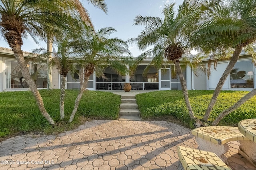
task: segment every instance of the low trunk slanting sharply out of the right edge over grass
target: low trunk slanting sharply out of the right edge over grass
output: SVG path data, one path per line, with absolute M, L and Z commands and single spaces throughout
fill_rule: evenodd
M 218 117 L 212 122 L 212 126 L 216 126 L 224 116 L 228 115 L 229 113 L 231 113 L 232 111 L 234 111 L 235 109 L 240 107 L 242 104 L 244 104 L 247 100 L 249 100 L 250 98 L 252 98 L 255 95 L 256 95 L 256 89 L 247 93 L 244 97 L 242 97 L 240 100 L 238 100 L 238 102 L 236 102 L 233 106 L 222 111 L 222 113 L 220 113 L 218 115 Z

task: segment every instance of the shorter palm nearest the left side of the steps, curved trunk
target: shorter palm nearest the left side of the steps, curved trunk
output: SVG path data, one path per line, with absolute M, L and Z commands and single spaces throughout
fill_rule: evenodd
M 112 27 L 106 27 L 98 30 L 96 33 L 92 29 L 84 29 L 79 39 L 74 41 L 74 48 L 79 56 L 78 63 L 80 68 L 81 89 L 78 94 L 75 106 L 70 116 L 69 122 L 72 122 L 77 111 L 80 99 L 86 90 L 86 85 L 90 75 L 96 70 L 96 76 L 103 76 L 104 68 L 110 67 L 120 72 L 126 73 L 125 64 L 129 64 L 131 57 L 123 57 L 125 54 L 130 55 L 128 45 L 118 38 L 109 38 L 116 31 Z

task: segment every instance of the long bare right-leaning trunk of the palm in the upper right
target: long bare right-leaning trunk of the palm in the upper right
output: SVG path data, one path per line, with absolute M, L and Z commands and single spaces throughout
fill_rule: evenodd
M 220 90 L 222 89 L 223 85 L 224 85 L 224 82 L 226 81 L 227 77 L 228 77 L 228 74 L 230 74 L 231 70 L 233 69 L 234 65 L 236 64 L 238 58 L 239 58 L 239 55 L 242 51 L 242 46 L 236 46 L 236 49 L 234 51 L 234 54 L 233 56 L 231 57 L 230 59 L 230 62 L 226 68 L 226 70 L 224 71 L 224 73 L 222 74 L 215 90 L 214 90 L 214 94 L 212 96 L 212 99 L 210 101 L 210 104 L 208 105 L 208 108 L 206 110 L 206 113 L 203 117 L 203 120 L 204 121 L 207 121 L 209 116 L 210 116 L 210 113 L 212 111 L 212 108 L 214 106 L 214 104 L 216 103 L 216 100 L 218 98 L 218 95 L 220 94 Z

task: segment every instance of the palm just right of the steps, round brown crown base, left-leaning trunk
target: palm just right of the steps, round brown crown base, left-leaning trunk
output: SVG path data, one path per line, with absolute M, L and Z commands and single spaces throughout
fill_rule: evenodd
M 182 58 L 190 58 L 189 52 L 192 49 L 187 41 L 187 33 L 194 29 L 194 23 L 202 14 L 202 10 L 198 6 L 198 2 L 192 0 L 184 0 L 178 8 L 178 14 L 175 13 L 174 6 L 175 4 L 170 4 L 164 8 L 164 20 L 155 17 L 137 16 L 134 25 L 144 25 L 145 29 L 140 32 L 137 38 L 129 41 L 136 41 L 140 50 L 145 50 L 147 47 L 154 45 L 152 49 L 138 57 L 138 62 L 143 61 L 146 57 L 153 57 L 150 64 L 158 69 L 164 64 L 164 57 L 167 62 L 172 61 L 174 63 L 180 78 L 188 113 L 191 119 L 196 119 L 188 99 L 188 90 L 180 62 Z

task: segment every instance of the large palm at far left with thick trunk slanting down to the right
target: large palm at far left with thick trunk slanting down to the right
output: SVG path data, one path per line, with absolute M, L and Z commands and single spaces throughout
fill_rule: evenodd
M 50 11 L 58 11 L 63 13 L 65 18 L 65 12 L 63 8 L 59 8 L 56 3 L 59 1 L 48 0 L 1 0 L 0 1 L 0 29 L 4 39 L 8 42 L 14 56 L 17 59 L 18 67 L 22 72 L 22 76 L 25 78 L 31 92 L 33 93 L 40 112 L 48 120 L 48 122 L 54 125 L 54 120 L 50 117 L 44 108 L 42 98 L 36 88 L 35 82 L 32 80 L 26 61 L 24 59 L 21 46 L 23 45 L 22 38 L 27 34 L 32 38 L 44 37 L 45 29 L 51 30 L 53 33 L 58 31 L 58 25 L 65 25 L 63 20 L 52 16 L 48 21 L 49 16 L 46 15 Z M 47 12 L 45 12 L 47 9 Z M 52 22 L 54 20 L 54 22 Z M 47 25 L 47 26 L 46 26 Z M 66 24 L 66 27 L 68 25 Z

